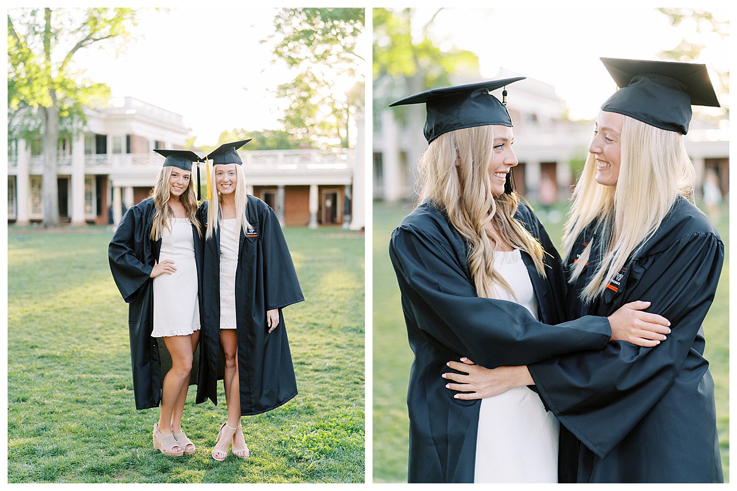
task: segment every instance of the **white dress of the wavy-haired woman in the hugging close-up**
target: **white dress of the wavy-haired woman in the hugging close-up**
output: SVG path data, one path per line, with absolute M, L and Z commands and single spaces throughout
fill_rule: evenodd
M 520 250 L 495 252 L 494 268 L 537 319 L 537 297 Z M 497 298 L 515 301 L 506 289 L 496 289 Z M 558 420 L 527 386 L 482 399 L 475 482 L 558 482 L 558 432 Z

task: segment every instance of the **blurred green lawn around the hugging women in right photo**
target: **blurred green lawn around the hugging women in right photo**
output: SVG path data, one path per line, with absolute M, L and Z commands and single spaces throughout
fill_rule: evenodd
M 408 428 L 407 382 L 413 353 L 407 331 L 399 288 L 388 257 L 391 231 L 410 213 L 408 203 L 374 202 L 374 481 L 403 482 L 407 479 Z M 565 207 L 556 208 L 559 214 Z M 722 452 L 724 481 L 729 481 L 729 216 L 724 205 L 719 233 L 724 240 L 726 257 L 716 299 L 706 317 L 705 357 L 716 386 L 716 417 Z M 553 242 L 560 244 L 562 221 L 552 223 L 542 217 Z

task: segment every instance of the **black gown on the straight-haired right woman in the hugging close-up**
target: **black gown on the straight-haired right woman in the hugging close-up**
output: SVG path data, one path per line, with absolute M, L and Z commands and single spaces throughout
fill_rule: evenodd
M 590 230 L 576 240 L 571 264 L 590 240 Z M 679 197 L 601 300 L 584 305 L 577 295 L 594 264 L 573 284 L 573 317 L 649 300 L 647 311 L 670 320 L 671 333 L 652 348 L 612 342 L 528 366 L 547 406 L 582 442 L 561 427 L 561 481 L 722 482 L 702 321 L 723 260 L 719 233 Z

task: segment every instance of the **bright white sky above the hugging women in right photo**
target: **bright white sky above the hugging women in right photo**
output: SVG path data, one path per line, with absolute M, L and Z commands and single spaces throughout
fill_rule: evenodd
M 482 79 L 495 77 L 502 66 L 554 85 L 573 119 L 595 119 L 598 107 L 615 91 L 599 57 L 659 60 L 660 51 L 673 49 L 685 29 L 693 29 L 672 27 L 666 15 L 652 7 L 622 8 L 607 2 L 597 4 L 607 7 L 562 8 L 559 1 L 550 2 L 555 8 L 505 7 L 511 4 L 441 10 L 431 24 L 430 38 L 441 47 L 453 43 L 477 54 Z M 436 10 L 419 9 L 413 29 L 426 24 Z M 714 60 L 727 68 L 728 44 L 728 39 L 710 38 L 698 63 Z

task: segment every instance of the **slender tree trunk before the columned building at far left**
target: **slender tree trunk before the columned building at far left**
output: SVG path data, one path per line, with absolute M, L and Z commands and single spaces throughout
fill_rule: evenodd
M 42 226 L 58 227 L 59 189 L 56 174 L 59 144 L 59 108 L 39 107 L 43 120 L 43 222 Z

